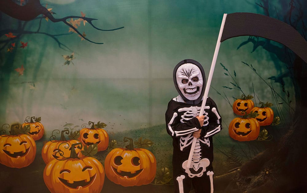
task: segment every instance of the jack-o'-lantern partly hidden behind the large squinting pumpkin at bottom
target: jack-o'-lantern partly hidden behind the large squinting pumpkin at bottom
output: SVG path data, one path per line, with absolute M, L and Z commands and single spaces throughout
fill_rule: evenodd
M 54 131 L 60 132 L 59 130 L 54 130 Z M 60 140 L 56 140 L 56 141 L 50 140 L 49 142 L 45 143 L 45 145 L 43 146 L 41 150 L 41 156 L 45 164 L 47 164 L 50 160 L 53 160 L 53 159 L 57 159 L 57 160 L 67 159 L 70 155 L 70 152 L 71 152 L 70 149 L 72 148 L 72 144 L 80 142 L 75 139 L 66 140 L 64 133 L 69 134 L 69 130 L 66 129 L 61 132 Z M 54 136 L 53 131 L 52 131 L 52 136 Z M 83 156 L 81 153 L 81 150 L 78 149 L 76 146 L 75 146 L 75 151 L 78 157 Z

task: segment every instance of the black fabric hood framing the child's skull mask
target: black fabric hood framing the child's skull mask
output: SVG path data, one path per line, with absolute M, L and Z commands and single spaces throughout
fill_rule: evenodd
M 178 88 L 178 85 L 177 85 L 177 77 L 176 77 L 176 72 L 177 72 L 177 69 L 183 65 L 183 64 L 186 64 L 186 63 L 191 63 L 191 64 L 194 64 L 196 65 L 199 69 L 200 69 L 200 72 L 201 72 L 201 75 L 203 76 L 203 88 L 201 90 L 201 93 L 200 93 L 200 97 L 198 97 L 196 100 L 188 100 L 180 91 L 180 89 Z M 202 98 L 204 97 L 204 92 L 205 92 L 205 87 L 206 87 L 206 77 L 205 77 L 205 71 L 203 69 L 203 66 L 201 66 L 201 64 L 195 60 L 192 60 L 192 59 L 185 59 L 185 60 L 182 60 L 181 62 L 179 62 L 175 68 L 174 68 L 174 71 L 173 71 L 173 80 L 174 80 L 174 84 L 175 84 L 175 87 L 177 89 L 177 92 L 179 93 L 179 95 L 182 97 L 182 99 L 187 103 L 187 104 L 199 104 L 200 101 L 202 100 Z

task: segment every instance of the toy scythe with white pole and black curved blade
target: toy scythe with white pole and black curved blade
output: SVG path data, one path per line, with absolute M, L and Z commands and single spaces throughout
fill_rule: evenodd
M 258 36 L 276 41 L 288 47 L 307 63 L 307 42 L 301 34 L 289 24 L 256 13 L 224 13 L 199 113 L 200 115 L 204 114 L 204 107 L 207 101 L 220 44 L 229 38 L 237 36 Z M 191 167 L 196 140 L 197 138 L 194 137 L 191 145 L 187 161 L 187 167 L 189 168 Z

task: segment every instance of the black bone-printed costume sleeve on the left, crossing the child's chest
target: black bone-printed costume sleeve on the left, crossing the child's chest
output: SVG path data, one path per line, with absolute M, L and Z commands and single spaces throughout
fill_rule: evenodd
M 199 121 L 196 117 L 185 123 L 180 122 L 180 117 L 176 111 L 176 107 L 172 101 L 169 102 L 165 113 L 166 131 L 172 137 L 185 137 L 201 129 Z

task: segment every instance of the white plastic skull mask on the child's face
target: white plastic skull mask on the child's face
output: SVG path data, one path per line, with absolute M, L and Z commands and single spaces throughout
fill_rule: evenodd
M 181 93 L 188 100 L 200 97 L 203 88 L 203 76 L 200 69 L 191 63 L 185 63 L 177 69 L 176 80 Z

